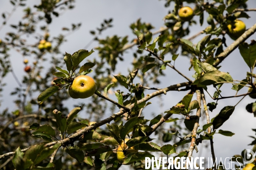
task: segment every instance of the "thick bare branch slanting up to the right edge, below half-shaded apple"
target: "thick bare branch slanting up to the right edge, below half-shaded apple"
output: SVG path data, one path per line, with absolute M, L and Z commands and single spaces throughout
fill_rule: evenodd
M 216 57 L 216 62 L 213 64 L 214 67 L 218 66 L 232 51 L 234 51 L 242 42 L 247 40 L 256 31 L 256 24 L 244 32 L 236 41 L 228 46 L 221 54 Z

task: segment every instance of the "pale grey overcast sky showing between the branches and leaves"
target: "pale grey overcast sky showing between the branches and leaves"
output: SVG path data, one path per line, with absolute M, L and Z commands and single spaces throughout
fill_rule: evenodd
M 73 52 L 84 48 L 84 46 L 93 38 L 92 35 L 89 33 L 90 30 L 99 27 L 100 23 L 104 19 L 113 18 L 113 28 L 104 31 L 101 37 L 104 38 L 105 36 L 112 36 L 114 34 L 122 37 L 128 35 L 129 41 L 131 41 L 135 37 L 131 33 L 129 25 L 135 22 L 138 18 L 141 18 L 143 22 L 151 23 L 155 27 L 154 31 L 164 26 L 163 17 L 168 14 L 168 11 L 172 10 L 173 7 L 170 6 L 168 8 L 165 8 L 164 2 L 164 0 L 76 0 L 75 8 L 73 10 L 67 11 L 66 13 L 61 15 L 61 17 L 54 18 L 52 24 L 49 27 L 49 33 L 51 35 L 57 35 L 59 34 L 59 31 L 62 27 L 70 26 L 71 23 L 81 22 L 82 26 L 79 31 L 76 31 L 74 34 L 67 37 L 68 41 L 61 46 L 61 51 L 63 53 L 64 51 L 66 51 L 67 53 L 72 54 Z M 34 4 L 40 3 L 40 0 L 28 0 L 26 3 L 28 3 L 29 6 L 33 6 Z M 248 8 L 256 8 L 256 1 L 248 0 Z M 10 11 L 11 9 L 12 6 L 10 5 L 8 0 L 0 0 L 0 11 Z M 22 8 L 18 8 L 7 25 L 17 23 L 17 21 L 21 19 L 20 17 L 22 16 L 22 14 Z M 250 28 L 251 26 L 253 26 L 253 24 L 255 24 L 255 17 L 253 16 L 255 16 L 256 13 L 248 12 L 248 14 L 251 16 L 250 19 L 241 18 L 241 20 L 246 23 L 247 28 Z M 206 20 L 207 17 L 204 18 Z M 194 19 L 198 21 L 199 18 L 195 17 Z M 2 22 L 2 18 L 0 19 L 0 22 Z M 204 22 L 204 25 L 202 27 L 199 25 L 192 26 L 190 28 L 190 36 L 196 34 L 198 31 L 203 30 L 206 26 L 206 21 Z M 0 38 L 4 37 L 4 34 L 9 31 L 9 29 L 10 28 L 8 26 L 4 27 L 0 31 Z M 195 40 L 193 40 L 193 42 L 197 43 L 199 40 L 201 40 L 202 37 L 203 36 L 196 38 Z M 233 40 L 231 40 L 228 36 L 226 36 L 226 38 L 227 45 L 230 45 Z M 251 36 L 247 40 L 247 42 L 250 42 L 250 40 L 253 39 L 256 39 L 256 34 Z M 88 50 L 94 48 L 96 45 L 96 43 L 93 43 L 92 45 L 90 45 Z M 136 50 L 136 47 L 132 48 L 132 50 Z M 125 61 L 119 62 L 119 65 L 117 66 L 117 69 L 115 71 L 116 74 L 119 72 L 124 75 L 128 74 L 127 65 L 131 64 L 132 61 L 132 50 L 125 53 L 123 57 Z M 25 74 L 23 71 L 24 65 L 21 64 L 23 62 L 23 57 L 13 51 L 11 54 L 11 60 L 14 66 L 13 68 L 15 74 L 17 74 L 17 77 L 21 81 L 23 75 Z M 92 56 L 97 57 L 97 51 L 93 53 Z M 171 56 L 167 56 L 166 59 L 168 57 L 170 58 Z M 186 76 L 191 77 L 195 73 L 195 71 L 193 69 L 192 71 L 189 71 L 189 66 L 190 63 L 187 57 L 179 56 L 175 62 L 175 67 L 178 70 L 181 70 Z M 236 80 L 244 79 L 246 77 L 246 72 L 250 71 L 246 63 L 242 59 L 238 49 L 233 51 L 230 56 L 221 63 L 221 66 L 222 67 L 219 69 L 220 71 L 229 72 L 233 79 Z M 159 85 L 159 88 L 164 88 L 172 84 L 186 81 L 186 79 L 178 76 L 178 74 L 175 73 L 175 71 L 171 70 L 171 68 L 166 68 L 166 74 L 168 74 L 166 77 L 160 79 L 162 80 L 162 83 Z M 3 110 L 6 107 L 13 108 L 13 110 L 15 110 L 15 105 L 12 102 L 14 98 L 9 94 L 11 91 L 14 90 L 15 87 L 17 87 L 17 84 L 11 74 L 9 74 L 4 79 L 4 81 L 7 82 L 7 85 L 5 86 L 3 91 L 4 97 L 1 98 L 3 102 L 0 110 Z M 236 91 L 231 90 L 231 87 L 231 84 L 224 85 L 221 88 L 221 90 L 223 91 L 222 95 L 235 95 Z M 215 90 L 213 88 L 209 89 L 210 93 L 213 94 Z M 247 89 L 244 88 L 239 91 L 239 94 L 246 93 L 246 91 Z M 145 91 L 146 94 L 151 92 L 152 91 Z M 164 104 L 162 108 L 160 108 L 159 104 L 157 104 L 159 103 L 159 98 L 152 99 L 150 102 L 152 102 L 153 104 L 147 106 L 143 110 L 143 116 L 145 116 L 147 119 L 151 119 L 151 113 L 163 114 L 164 111 L 168 110 L 180 99 L 182 99 L 185 94 L 186 92 L 168 92 L 166 95 L 162 95 L 161 102 L 163 102 Z M 111 96 L 111 98 L 115 99 L 114 96 Z M 213 102 L 213 100 L 208 95 L 206 95 L 206 99 L 207 102 Z M 210 112 L 210 117 L 213 118 L 224 106 L 235 105 L 239 101 L 239 99 L 241 98 L 225 99 L 219 101 L 218 107 L 213 112 Z M 69 99 L 67 102 L 75 103 L 77 102 L 77 100 L 74 101 L 74 99 Z M 87 100 L 89 99 L 81 99 L 81 101 L 79 102 L 86 102 Z M 248 113 L 245 110 L 245 106 L 251 102 L 254 102 L 254 100 L 250 99 L 249 96 L 246 96 L 245 99 L 240 102 L 239 105 L 236 107 L 230 119 L 227 120 L 227 122 L 225 122 L 223 126 L 221 126 L 220 129 L 222 130 L 229 130 L 233 133 L 236 133 L 234 136 L 227 137 L 220 134 L 214 135 L 213 141 L 215 147 L 215 156 L 217 158 L 231 157 L 235 154 L 241 154 L 241 151 L 243 149 L 251 149 L 251 146 L 247 146 L 247 144 L 252 142 L 253 139 L 248 136 L 255 136 L 255 133 L 251 129 L 256 128 L 256 118 L 253 116 L 253 114 Z M 69 108 L 73 108 L 73 105 L 70 105 Z M 110 116 L 111 114 L 112 113 L 107 113 L 105 117 Z M 201 121 L 201 126 L 199 128 L 202 128 L 205 122 L 205 120 Z M 201 147 L 199 146 L 199 150 L 200 149 Z M 209 147 L 207 149 L 204 148 L 202 152 L 203 153 L 201 153 L 201 156 L 211 156 Z M 194 154 L 194 156 L 196 156 L 196 154 Z

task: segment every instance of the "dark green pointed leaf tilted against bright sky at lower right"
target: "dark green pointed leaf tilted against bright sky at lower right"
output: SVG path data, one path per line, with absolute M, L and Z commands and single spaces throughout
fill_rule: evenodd
M 215 117 L 215 119 L 212 122 L 213 130 L 218 129 L 223 125 L 224 122 L 229 119 L 229 117 L 232 115 L 233 111 L 235 110 L 234 106 L 226 106 L 221 109 L 220 113 Z

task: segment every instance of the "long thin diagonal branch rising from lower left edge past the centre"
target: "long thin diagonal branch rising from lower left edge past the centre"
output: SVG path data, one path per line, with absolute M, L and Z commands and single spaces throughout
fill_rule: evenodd
M 156 96 L 159 96 L 160 94 L 166 94 L 166 92 L 168 92 L 168 91 L 171 91 L 171 90 L 176 89 L 176 88 L 185 87 L 185 86 L 188 86 L 188 85 L 190 85 L 189 82 L 183 82 L 183 83 L 179 83 L 179 84 L 176 84 L 176 85 L 171 85 L 171 86 L 169 86 L 169 87 L 167 87 L 167 88 L 163 88 L 163 89 L 161 89 L 161 90 L 159 90 L 159 91 L 154 91 L 153 93 L 146 95 L 143 99 L 138 100 L 138 101 L 137 101 L 137 105 L 139 105 L 139 104 L 142 103 L 142 102 L 146 102 L 146 101 L 148 101 L 149 99 L 152 99 L 152 98 L 154 98 L 154 97 L 156 97 Z M 131 104 L 128 108 L 131 110 L 132 108 L 134 108 L 134 104 Z M 116 117 L 122 116 L 122 115 L 123 115 L 124 113 L 126 113 L 126 112 L 127 112 L 127 111 L 125 111 L 125 110 L 119 111 L 119 112 L 113 114 L 112 116 L 108 117 L 107 119 L 104 119 L 104 120 L 102 120 L 102 121 L 100 121 L 100 122 L 98 122 L 98 123 L 95 123 L 95 124 L 93 124 L 93 125 L 90 125 L 90 126 L 84 128 L 83 130 L 80 130 L 80 131 L 77 132 L 77 133 L 74 133 L 73 135 L 71 135 L 70 137 L 68 137 L 68 138 L 66 138 L 66 139 L 63 139 L 63 140 L 60 140 L 60 141 L 54 141 L 54 142 L 47 143 L 47 144 L 44 145 L 44 147 L 49 147 L 49 146 L 52 146 L 52 145 L 57 144 L 57 143 L 60 143 L 60 144 L 62 144 L 63 146 L 64 146 L 64 145 L 71 144 L 71 143 L 73 143 L 74 141 L 76 141 L 77 139 L 79 139 L 80 136 L 82 136 L 83 134 L 87 133 L 88 131 L 94 130 L 94 129 L 96 129 L 97 127 L 100 127 L 100 126 L 102 126 L 102 125 L 105 125 L 106 123 L 111 122 L 111 121 L 112 121 L 113 119 L 115 119 Z M 28 148 L 23 149 L 23 150 L 21 150 L 21 151 L 26 151 L 27 149 L 28 149 Z M 3 154 L 3 155 L 0 156 L 0 160 L 3 159 L 3 158 L 6 157 L 6 156 L 12 156 L 12 155 L 14 155 L 14 154 L 15 154 L 15 152 L 9 152 L 9 153 Z

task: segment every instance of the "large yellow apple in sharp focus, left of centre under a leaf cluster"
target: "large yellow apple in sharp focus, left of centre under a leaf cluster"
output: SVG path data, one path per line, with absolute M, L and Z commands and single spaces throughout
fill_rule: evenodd
M 89 76 L 78 76 L 68 88 L 68 93 L 73 99 L 85 99 L 90 97 L 96 91 L 96 85 L 93 78 Z

